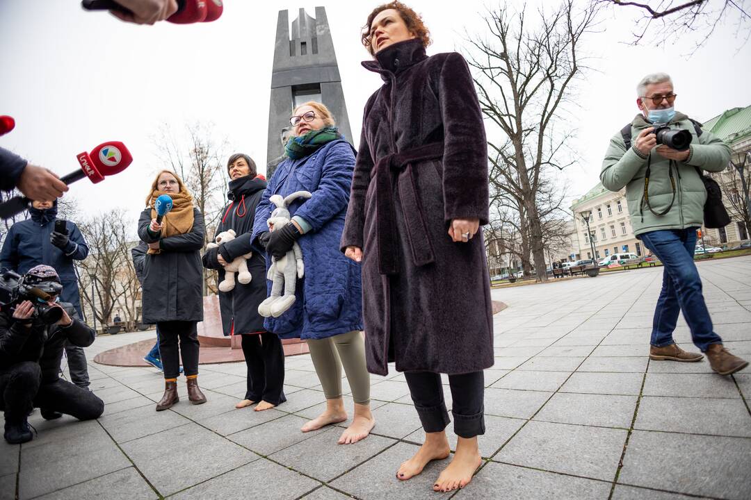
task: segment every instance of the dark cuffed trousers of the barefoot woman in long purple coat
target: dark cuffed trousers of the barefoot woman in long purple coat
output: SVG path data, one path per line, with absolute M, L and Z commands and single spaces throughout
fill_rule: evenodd
M 405 372 L 407 385 L 415 409 L 426 433 L 439 433 L 450 422 L 443 400 L 443 385 L 439 373 Z M 454 400 L 454 433 L 473 438 L 485 433 L 484 374 L 480 372 L 449 375 L 448 385 Z

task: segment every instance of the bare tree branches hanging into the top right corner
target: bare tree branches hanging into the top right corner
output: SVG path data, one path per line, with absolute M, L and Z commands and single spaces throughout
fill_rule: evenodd
M 751 21 L 746 0 L 598 1 L 641 10 L 643 15 L 637 20 L 634 31 L 635 45 L 641 43 L 647 34 L 651 34 L 650 41 L 658 45 L 681 37 L 698 37 L 691 52 L 693 54 L 723 22 L 734 22 L 735 37 L 740 46 L 751 36 L 751 31 L 746 29 L 747 23 Z

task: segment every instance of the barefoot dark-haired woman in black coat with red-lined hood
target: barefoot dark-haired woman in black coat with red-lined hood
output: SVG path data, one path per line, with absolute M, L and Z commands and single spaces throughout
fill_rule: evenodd
M 230 202 L 222 210 L 222 220 L 216 234 L 234 230 L 234 240 L 204 253 L 204 267 L 219 271 L 219 281 L 225 279 L 224 266 L 238 256 L 252 253 L 247 259 L 250 283 L 235 281 L 234 289 L 219 292 L 222 328 L 225 335 L 240 335 L 243 355 L 248 366 L 247 390 L 237 408 L 255 404 L 255 411 L 271 409 L 284 403 L 284 351 L 282 341 L 264 328 L 264 318 L 258 314 L 258 304 L 266 298 L 266 259 L 263 252 L 251 247 L 255 209 L 266 189 L 266 181 L 257 177 L 255 162 L 247 154 L 233 154 L 227 162 L 232 179 L 229 184 Z M 216 235 L 214 236 L 216 238 Z M 256 404 L 258 403 L 258 404 Z

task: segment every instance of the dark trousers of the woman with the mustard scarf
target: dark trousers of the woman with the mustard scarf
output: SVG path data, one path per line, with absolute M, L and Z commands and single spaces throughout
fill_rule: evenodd
M 198 330 L 195 325 L 195 321 L 165 321 L 156 324 L 165 379 L 176 379 L 179 376 L 180 354 L 185 376 L 198 375 Z

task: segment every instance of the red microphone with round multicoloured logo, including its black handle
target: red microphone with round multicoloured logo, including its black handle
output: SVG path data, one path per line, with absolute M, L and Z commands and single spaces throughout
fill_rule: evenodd
M 104 181 L 107 175 L 115 175 L 125 170 L 133 161 L 131 152 L 125 147 L 125 144 L 119 141 L 103 142 L 91 153 L 83 151 L 76 155 L 76 160 L 80 164 L 80 170 L 63 175 L 60 180 L 65 184 L 72 184 L 75 181 L 88 177 L 94 184 Z M 14 196 L 8 201 L 0 203 L 0 218 L 8 219 L 15 214 L 20 214 L 28 208 L 31 202 L 26 196 Z

